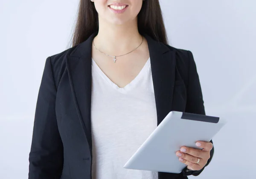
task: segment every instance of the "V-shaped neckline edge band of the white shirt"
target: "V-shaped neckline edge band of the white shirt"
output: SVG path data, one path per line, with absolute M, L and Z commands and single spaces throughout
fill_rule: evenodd
M 108 76 L 102 71 L 101 68 L 99 68 L 99 66 L 97 65 L 97 63 L 93 60 L 92 58 L 92 65 L 93 67 L 95 66 L 95 68 L 92 68 L 92 70 L 96 70 L 96 72 L 106 81 L 108 82 L 109 85 L 111 85 L 115 90 L 125 93 L 130 91 L 131 89 L 133 89 L 137 83 L 139 82 L 139 80 L 146 74 L 146 72 L 150 69 L 150 57 L 148 58 L 148 60 L 146 61 L 146 63 L 144 64 L 143 68 L 140 70 L 139 74 L 137 74 L 137 76 L 131 81 L 129 82 L 127 85 L 125 85 L 124 87 L 120 88 L 118 85 L 116 85 L 116 83 L 112 82 Z

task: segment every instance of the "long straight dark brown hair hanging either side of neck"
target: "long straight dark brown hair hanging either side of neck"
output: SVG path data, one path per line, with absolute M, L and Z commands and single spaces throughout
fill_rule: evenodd
M 80 0 L 72 47 L 84 42 L 94 32 L 99 31 L 98 13 L 93 2 Z M 159 0 L 143 0 L 138 14 L 138 31 L 154 40 L 168 44 Z

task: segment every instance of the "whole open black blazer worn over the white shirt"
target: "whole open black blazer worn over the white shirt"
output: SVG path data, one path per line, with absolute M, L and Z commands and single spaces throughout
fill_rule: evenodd
M 29 179 L 91 179 L 91 51 L 95 36 L 46 60 L 35 110 Z M 205 114 L 191 51 L 144 37 L 151 60 L 157 125 L 170 111 Z M 186 179 L 201 171 L 159 172 L 159 179 Z

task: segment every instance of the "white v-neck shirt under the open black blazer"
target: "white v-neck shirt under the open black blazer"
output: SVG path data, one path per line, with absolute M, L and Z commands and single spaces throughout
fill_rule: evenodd
M 150 58 L 124 88 L 92 59 L 91 127 L 93 179 L 158 179 L 157 172 L 123 168 L 157 127 Z

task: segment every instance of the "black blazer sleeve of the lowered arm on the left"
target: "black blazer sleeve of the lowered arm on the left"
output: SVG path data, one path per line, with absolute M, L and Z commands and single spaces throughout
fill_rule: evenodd
M 63 144 L 55 115 L 56 86 L 51 58 L 45 63 L 29 153 L 29 179 L 60 179 L 63 168 Z

